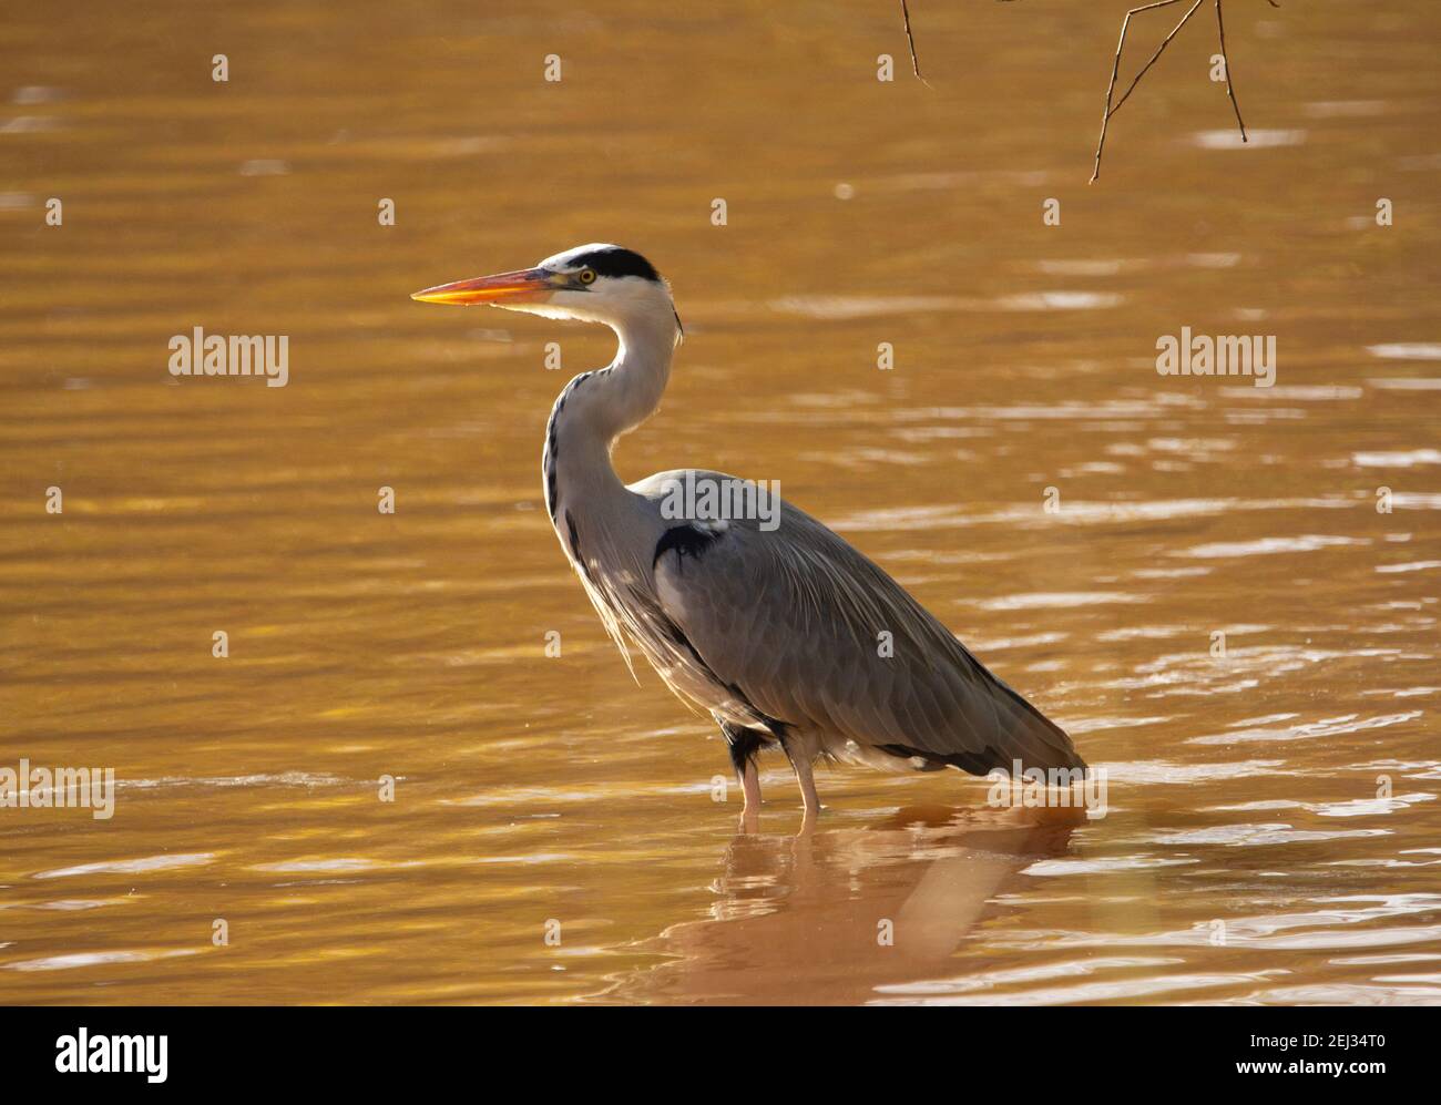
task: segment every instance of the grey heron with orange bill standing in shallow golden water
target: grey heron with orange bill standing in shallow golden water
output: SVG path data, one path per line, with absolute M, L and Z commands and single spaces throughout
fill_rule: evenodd
M 676 470 L 621 483 L 611 449 L 660 405 L 682 339 L 670 288 L 640 254 L 582 245 L 535 268 L 412 298 L 615 331 L 615 359 L 572 379 L 555 401 L 542 454 L 546 509 L 627 667 L 634 645 L 720 728 L 744 818 L 761 801 L 757 753 L 777 745 L 807 821 L 820 808 L 811 765 L 821 756 L 889 771 L 1085 771 L 1059 726 L 795 506 L 780 503 L 774 527 L 715 513 L 677 519 L 663 504 L 679 483 L 746 481 Z

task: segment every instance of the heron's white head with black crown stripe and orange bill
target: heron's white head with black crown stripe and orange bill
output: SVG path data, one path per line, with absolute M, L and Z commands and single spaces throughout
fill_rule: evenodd
M 623 328 L 680 317 L 656 267 L 633 249 L 592 242 L 548 256 L 535 268 L 441 284 L 411 295 L 421 303 L 484 304 L 545 318 L 578 318 Z

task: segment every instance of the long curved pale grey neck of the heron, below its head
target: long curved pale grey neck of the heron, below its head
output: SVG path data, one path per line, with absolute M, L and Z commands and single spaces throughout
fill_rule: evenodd
M 611 465 L 611 448 L 656 412 L 670 379 L 676 350 L 672 313 L 637 311 L 610 326 L 620 340 L 615 360 L 571 380 L 546 426 L 546 507 L 562 532 L 563 510 L 597 507 L 625 493 Z

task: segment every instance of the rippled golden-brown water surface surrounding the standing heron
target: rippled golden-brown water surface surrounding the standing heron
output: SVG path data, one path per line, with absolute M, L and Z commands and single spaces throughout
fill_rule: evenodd
M 0 810 L 0 1000 L 1441 1001 L 1441 7 L 1226 0 L 1242 146 L 1206 6 L 1088 186 L 1127 6 L 912 0 L 929 88 L 889 0 L 9 12 L 0 768 L 117 794 Z M 612 337 L 408 298 L 591 241 L 687 327 L 620 471 L 780 480 L 1105 817 L 829 768 L 798 836 L 775 758 L 736 831 L 542 506 Z

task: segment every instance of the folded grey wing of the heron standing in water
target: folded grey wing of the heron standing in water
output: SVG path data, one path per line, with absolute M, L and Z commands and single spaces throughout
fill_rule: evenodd
M 656 583 L 689 647 L 764 715 L 977 775 L 1085 766 L 899 583 L 790 504 L 775 530 L 733 520 L 657 558 Z

